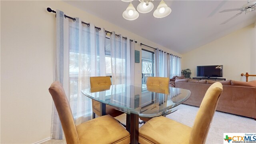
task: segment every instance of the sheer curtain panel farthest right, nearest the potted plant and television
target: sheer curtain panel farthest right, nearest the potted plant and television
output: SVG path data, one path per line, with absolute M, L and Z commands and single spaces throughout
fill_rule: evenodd
M 181 58 L 170 54 L 170 78 L 181 76 Z

